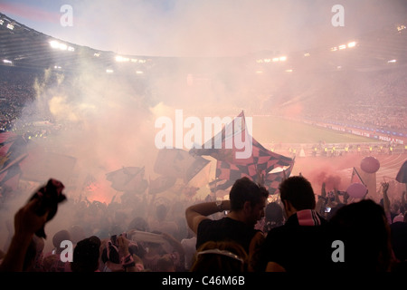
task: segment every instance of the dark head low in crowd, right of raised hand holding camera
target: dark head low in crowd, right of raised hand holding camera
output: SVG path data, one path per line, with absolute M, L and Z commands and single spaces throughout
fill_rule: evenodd
M 100 239 L 92 236 L 82 239 L 73 249 L 72 272 L 95 272 L 99 268 Z

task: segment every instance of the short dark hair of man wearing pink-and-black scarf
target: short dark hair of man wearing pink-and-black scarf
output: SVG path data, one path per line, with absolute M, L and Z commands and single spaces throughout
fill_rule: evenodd
M 288 200 L 297 210 L 316 207 L 314 189 L 303 176 L 291 176 L 279 184 L 279 197 Z

